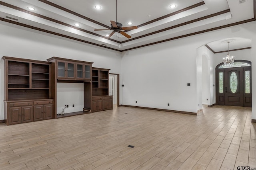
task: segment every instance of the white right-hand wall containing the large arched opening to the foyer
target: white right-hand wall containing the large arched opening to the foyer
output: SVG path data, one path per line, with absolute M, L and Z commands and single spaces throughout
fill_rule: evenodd
M 256 21 L 253 21 L 124 53 L 120 79 L 120 83 L 124 84 L 120 87 L 121 104 L 197 112 L 202 108 L 203 54 L 197 49 L 219 39 L 256 39 L 255 28 Z M 256 44 L 252 43 L 252 48 L 256 48 Z M 215 58 L 213 54 L 210 56 Z M 215 103 L 214 63 L 221 63 L 222 58 L 210 63 L 210 105 Z M 252 74 L 256 75 L 254 72 Z M 170 103 L 169 107 L 167 103 Z M 254 112 L 253 115 L 256 115 Z

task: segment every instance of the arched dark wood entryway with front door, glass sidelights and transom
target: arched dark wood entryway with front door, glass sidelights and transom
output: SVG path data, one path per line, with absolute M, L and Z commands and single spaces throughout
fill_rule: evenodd
M 252 107 L 252 67 L 250 61 L 220 63 L 215 68 L 216 105 Z

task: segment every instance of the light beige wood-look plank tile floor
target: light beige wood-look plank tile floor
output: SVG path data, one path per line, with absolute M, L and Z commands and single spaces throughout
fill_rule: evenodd
M 228 170 L 256 168 L 251 108 L 197 116 L 130 107 L 0 124 L 1 170 Z M 134 145 L 134 148 L 128 147 Z

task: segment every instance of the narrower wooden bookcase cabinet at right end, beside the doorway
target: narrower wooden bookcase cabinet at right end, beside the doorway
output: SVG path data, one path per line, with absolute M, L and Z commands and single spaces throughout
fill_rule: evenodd
M 109 69 L 92 68 L 92 112 L 113 109 L 109 95 Z

